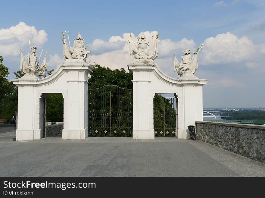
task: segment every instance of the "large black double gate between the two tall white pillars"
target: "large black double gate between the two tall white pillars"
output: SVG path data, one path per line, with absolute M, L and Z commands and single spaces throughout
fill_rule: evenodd
M 133 136 L 133 90 L 106 85 L 88 90 L 89 136 Z

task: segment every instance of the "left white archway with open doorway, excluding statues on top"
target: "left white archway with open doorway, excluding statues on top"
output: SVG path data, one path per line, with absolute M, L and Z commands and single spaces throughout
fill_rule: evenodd
M 11 80 L 18 87 L 16 140 L 44 137 L 46 93 L 61 93 L 64 98 L 63 139 L 88 137 L 87 79 L 93 67 L 83 60 L 66 60 L 50 76 Z M 54 120 L 56 121 L 56 120 Z

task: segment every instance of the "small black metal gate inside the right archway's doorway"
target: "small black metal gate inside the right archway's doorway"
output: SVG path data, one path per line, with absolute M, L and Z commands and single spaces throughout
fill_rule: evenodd
M 176 98 L 154 96 L 154 136 L 176 137 Z

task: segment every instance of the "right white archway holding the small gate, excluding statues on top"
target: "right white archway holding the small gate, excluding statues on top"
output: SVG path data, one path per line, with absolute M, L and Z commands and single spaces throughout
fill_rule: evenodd
M 169 77 L 151 59 L 136 59 L 128 69 L 133 72 L 133 139 L 154 139 L 155 93 L 177 96 L 178 138 L 188 138 L 187 125 L 203 119 L 202 86 L 207 80 Z

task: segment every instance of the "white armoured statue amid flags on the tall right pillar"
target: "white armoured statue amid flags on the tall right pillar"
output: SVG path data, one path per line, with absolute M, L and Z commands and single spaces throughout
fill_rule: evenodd
M 131 38 L 133 37 L 130 33 Z M 135 44 L 133 38 L 133 43 L 129 41 L 129 51 L 131 58 L 135 59 L 156 59 L 158 56 L 158 47 L 157 40 L 159 35 L 156 35 L 156 39 L 153 40 L 154 36 L 152 36 L 151 44 L 146 40 L 145 34 L 142 33 L 141 38 L 137 38 L 138 42 Z

